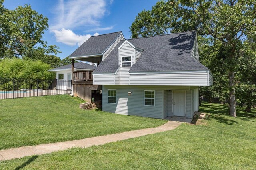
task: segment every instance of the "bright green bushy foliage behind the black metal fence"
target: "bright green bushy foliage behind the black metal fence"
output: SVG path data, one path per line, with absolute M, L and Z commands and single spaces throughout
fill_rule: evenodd
M 2 59 L 0 61 L 0 77 L 4 79 L 53 79 L 54 74 L 48 72 L 50 65 L 31 59 Z

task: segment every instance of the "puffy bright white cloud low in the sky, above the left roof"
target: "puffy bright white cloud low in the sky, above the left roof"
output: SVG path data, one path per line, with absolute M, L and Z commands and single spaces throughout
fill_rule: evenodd
M 90 38 L 91 34 L 79 35 L 72 32 L 72 30 L 66 30 L 62 28 L 61 30 L 52 30 L 54 32 L 56 41 L 64 43 L 66 45 L 74 46 L 74 45 L 82 45 L 88 38 Z M 98 32 L 93 34 L 94 36 L 100 35 Z

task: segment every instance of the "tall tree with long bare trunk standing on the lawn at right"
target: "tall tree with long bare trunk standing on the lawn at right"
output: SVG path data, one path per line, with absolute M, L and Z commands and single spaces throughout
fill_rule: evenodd
M 240 47 L 256 32 L 254 0 L 170 0 L 170 14 L 178 14 L 180 24 L 191 23 L 204 36 L 222 42 L 228 67 L 229 114 L 236 117 L 235 71 Z M 194 22 L 195 21 L 195 22 Z

